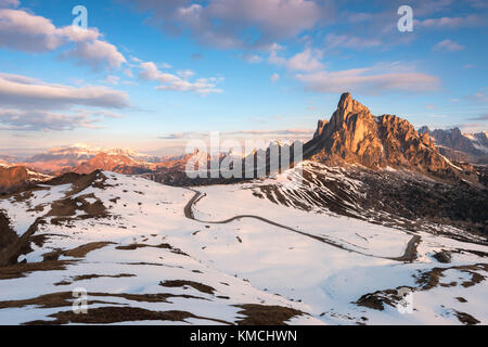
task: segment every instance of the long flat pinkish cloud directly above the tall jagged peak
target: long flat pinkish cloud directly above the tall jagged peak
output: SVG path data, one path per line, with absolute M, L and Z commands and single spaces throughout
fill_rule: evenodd
M 385 91 L 422 92 L 437 90 L 437 77 L 401 67 L 399 63 L 383 63 L 372 67 L 352 68 L 339 72 L 298 74 L 296 78 L 307 90 L 322 93 L 341 93 L 346 90 L 374 94 Z

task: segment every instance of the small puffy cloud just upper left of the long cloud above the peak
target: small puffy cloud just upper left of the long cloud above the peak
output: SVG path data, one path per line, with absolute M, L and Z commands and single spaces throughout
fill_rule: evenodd
M 278 66 L 284 66 L 290 70 L 316 72 L 324 66 L 320 62 L 323 51 L 320 49 L 306 48 L 303 52 L 298 52 L 290 59 L 281 56 L 278 52 L 281 47 L 271 50 L 268 61 Z

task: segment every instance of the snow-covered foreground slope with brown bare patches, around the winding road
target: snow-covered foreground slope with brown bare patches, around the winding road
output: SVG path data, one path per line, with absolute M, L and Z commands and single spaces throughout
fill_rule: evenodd
M 0 323 L 488 323 L 487 246 L 259 196 L 296 189 L 290 172 L 193 190 L 113 172 L 52 184 L 0 200 L 0 261 L 18 261 L 0 267 Z M 87 314 L 72 311 L 76 288 Z

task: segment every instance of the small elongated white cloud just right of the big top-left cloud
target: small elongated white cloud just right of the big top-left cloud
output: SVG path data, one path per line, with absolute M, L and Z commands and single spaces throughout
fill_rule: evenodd
M 157 65 L 153 62 L 141 62 L 139 68 L 140 79 L 159 82 L 159 86 L 156 87 L 157 90 L 191 91 L 202 95 L 223 92 L 221 89 L 217 88 L 217 82 L 219 82 L 221 78 L 200 78 L 194 82 L 191 82 L 187 79 L 193 76 L 189 74 L 190 70 L 184 70 L 183 77 L 187 78 L 182 78 L 180 76 L 159 70 Z

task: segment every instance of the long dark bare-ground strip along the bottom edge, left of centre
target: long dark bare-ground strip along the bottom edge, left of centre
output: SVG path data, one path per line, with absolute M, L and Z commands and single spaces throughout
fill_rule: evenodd
M 26 325 L 56 325 L 56 324 L 110 324 L 136 321 L 170 321 L 185 322 L 187 319 L 203 319 L 213 322 L 231 324 L 229 322 L 198 317 L 187 311 L 151 311 L 139 307 L 100 307 L 88 310 L 87 314 L 76 314 L 73 311 L 57 312 L 49 316 L 52 321 L 33 321 Z

